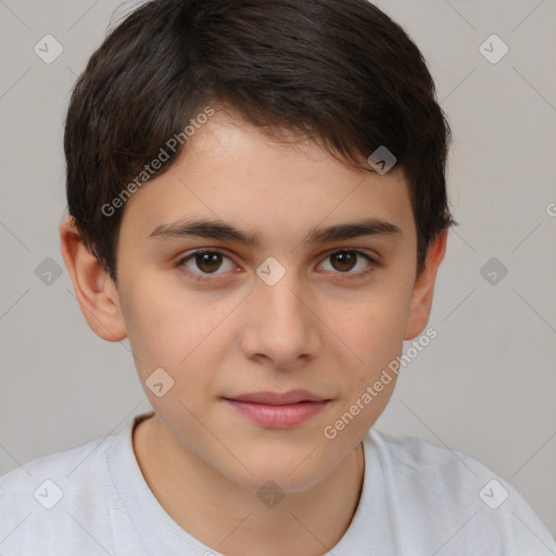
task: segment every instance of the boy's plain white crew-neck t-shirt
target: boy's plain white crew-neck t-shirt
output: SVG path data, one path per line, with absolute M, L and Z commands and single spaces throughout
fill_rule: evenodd
M 0 556 L 218 556 L 159 504 L 122 432 L 0 478 Z M 352 522 L 329 556 L 548 556 L 556 542 L 482 464 L 371 430 Z M 291 556 L 291 555 L 288 555 Z M 294 555 L 299 556 L 299 555 Z

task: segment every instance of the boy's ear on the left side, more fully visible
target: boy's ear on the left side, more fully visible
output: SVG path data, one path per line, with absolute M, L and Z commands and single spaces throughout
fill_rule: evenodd
M 60 225 L 60 243 L 81 312 L 92 331 L 109 342 L 127 337 L 116 287 L 83 241 L 73 216 Z

